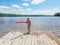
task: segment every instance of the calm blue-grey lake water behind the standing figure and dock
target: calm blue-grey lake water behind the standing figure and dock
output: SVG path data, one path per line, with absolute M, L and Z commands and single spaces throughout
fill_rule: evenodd
M 16 24 L 16 21 L 26 21 L 28 17 L 0 17 L 0 37 L 12 30 L 27 31 L 27 24 Z M 29 17 L 31 30 L 51 30 L 60 37 L 60 17 Z

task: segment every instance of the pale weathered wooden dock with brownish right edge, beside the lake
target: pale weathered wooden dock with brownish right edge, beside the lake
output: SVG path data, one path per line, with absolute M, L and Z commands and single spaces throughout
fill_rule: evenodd
M 11 31 L 0 38 L 0 45 L 59 45 L 59 39 L 47 31 L 31 32 L 23 35 L 20 31 Z

